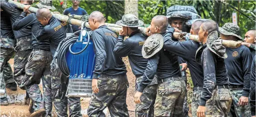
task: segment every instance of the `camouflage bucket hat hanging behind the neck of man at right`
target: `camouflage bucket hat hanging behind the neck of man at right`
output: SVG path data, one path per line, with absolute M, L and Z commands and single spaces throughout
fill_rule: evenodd
M 222 45 L 222 39 L 218 38 L 218 32 L 217 31 L 212 31 L 209 33 L 206 41 L 206 46 L 218 55 L 219 57 L 222 58 L 227 58 L 226 54 L 226 48 Z

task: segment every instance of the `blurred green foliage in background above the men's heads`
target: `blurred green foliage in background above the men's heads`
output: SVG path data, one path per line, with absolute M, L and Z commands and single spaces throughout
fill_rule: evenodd
M 56 7 L 56 11 L 63 13 L 64 8 L 60 6 L 61 1 L 53 0 L 53 5 Z M 67 0 L 66 6 L 72 6 L 71 2 L 71 0 Z M 239 9 L 255 19 L 255 1 L 227 0 L 226 2 L 236 8 L 238 8 L 239 2 Z M 157 14 L 166 15 L 166 10 L 171 5 L 192 5 L 202 18 L 215 20 L 219 26 L 222 26 L 225 22 L 232 22 L 232 12 L 236 12 L 238 15 L 237 11 L 219 0 L 138 0 L 139 19 L 143 20 L 146 24 L 150 24 L 153 16 Z M 81 0 L 79 6 L 88 13 L 94 10 L 101 11 L 109 23 L 115 23 L 124 14 L 123 0 Z M 255 28 L 255 22 L 240 13 L 238 25 L 242 37 L 248 29 Z

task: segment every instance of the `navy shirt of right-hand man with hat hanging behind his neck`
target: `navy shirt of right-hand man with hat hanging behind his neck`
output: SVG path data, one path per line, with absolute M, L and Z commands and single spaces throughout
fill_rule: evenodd
M 206 44 L 201 49 L 203 49 L 201 64 L 204 79 L 199 105 L 205 106 L 206 101 L 211 98 L 215 85 L 229 85 L 229 83 L 224 58 L 210 51 Z

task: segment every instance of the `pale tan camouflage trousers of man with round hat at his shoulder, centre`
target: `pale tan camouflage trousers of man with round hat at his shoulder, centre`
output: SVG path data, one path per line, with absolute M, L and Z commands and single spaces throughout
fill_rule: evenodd
M 186 86 L 182 77 L 159 83 L 154 103 L 154 116 L 183 116 Z

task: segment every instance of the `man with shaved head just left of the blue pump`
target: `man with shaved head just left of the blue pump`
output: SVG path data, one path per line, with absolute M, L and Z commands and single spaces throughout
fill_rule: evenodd
M 36 11 L 38 21 L 43 25 L 39 25 L 37 29 L 37 40 L 50 40 L 50 51 L 53 57 L 59 42 L 66 37 L 66 32 L 71 33 L 70 24 L 61 22 L 52 16 L 48 8 L 42 7 Z M 58 116 L 67 116 L 67 105 L 69 116 L 82 116 L 80 97 L 66 97 L 68 78 L 64 76 L 60 69 L 56 66 L 56 61 L 51 63 L 51 93 L 53 105 Z M 54 68 L 53 68 L 54 67 Z

